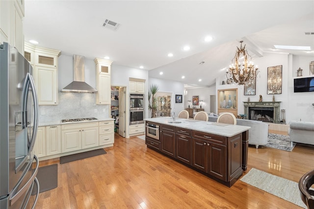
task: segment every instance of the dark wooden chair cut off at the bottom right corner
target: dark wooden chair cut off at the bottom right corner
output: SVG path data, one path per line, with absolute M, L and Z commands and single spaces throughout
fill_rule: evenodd
M 300 196 L 308 209 L 314 209 L 314 190 L 311 186 L 314 184 L 314 170 L 304 174 L 299 181 Z M 311 189 L 310 189 L 311 188 Z

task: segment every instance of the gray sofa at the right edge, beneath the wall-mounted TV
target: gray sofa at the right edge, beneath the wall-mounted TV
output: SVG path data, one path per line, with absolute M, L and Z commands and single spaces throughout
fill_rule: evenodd
M 290 121 L 289 136 L 293 142 L 314 145 L 314 123 Z

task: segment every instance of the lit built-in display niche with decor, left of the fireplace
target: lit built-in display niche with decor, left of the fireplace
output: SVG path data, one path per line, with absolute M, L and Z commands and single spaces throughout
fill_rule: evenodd
M 218 90 L 218 114 L 221 112 L 230 112 L 237 117 L 237 88 Z

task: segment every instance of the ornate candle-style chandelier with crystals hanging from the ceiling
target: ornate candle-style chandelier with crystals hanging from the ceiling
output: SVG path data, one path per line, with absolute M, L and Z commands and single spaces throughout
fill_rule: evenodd
M 235 63 L 229 66 L 229 71 L 227 71 L 226 74 L 226 77 L 228 78 L 227 81 L 233 81 L 238 85 L 252 82 L 252 80 L 254 80 L 259 73 L 257 66 L 254 67 L 253 62 L 248 61 L 248 57 L 251 59 L 251 56 L 247 53 L 245 45 L 242 47 L 242 42 L 243 41 L 240 41 L 240 49 L 236 47 L 237 50 L 235 57 L 232 59 Z M 239 61 L 240 56 L 244 57 L 244 61 L 242 63 Z

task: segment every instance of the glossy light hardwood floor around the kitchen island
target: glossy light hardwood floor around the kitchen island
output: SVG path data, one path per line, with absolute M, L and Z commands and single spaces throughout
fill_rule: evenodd
M 237 181 L 231 188 L 147 149 L 145 141 L 115 134 L 107 154 L 60 165 L 58 187 L 39 194 L 36 209 L 294 209 L 298 206 Z M 292 152 L 249 147 L 252 167 L 298 182 L 314 169 L 314 146 Z M 243 174 L 243 175 L 244 175 Z

